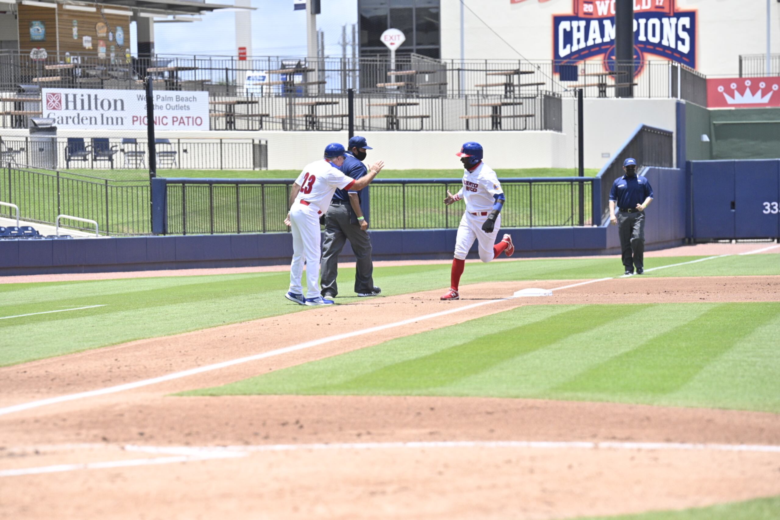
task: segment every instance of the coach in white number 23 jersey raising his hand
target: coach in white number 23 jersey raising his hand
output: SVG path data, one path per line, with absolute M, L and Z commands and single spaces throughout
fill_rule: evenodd
M 339 168 L 344 164 L 344 147 L 330 143 L 324 160 L 303 168 L 290 193 L 290 210 L 285 219 L 293 232 L 293 263 L 290 265 L 290 288 L 285 298 L 300 305 L 332 305 L 333 300 L 320 295 L 320 215 L 328 209 L 337 188 L 358 191 L 368 186 L 385 166 L 375 162 L 358 180 L 350 179 Z M 307 294 L 303 297 L 301 277 L 307 263 Z M 315 267 L 316 266 L 316 267 Z

